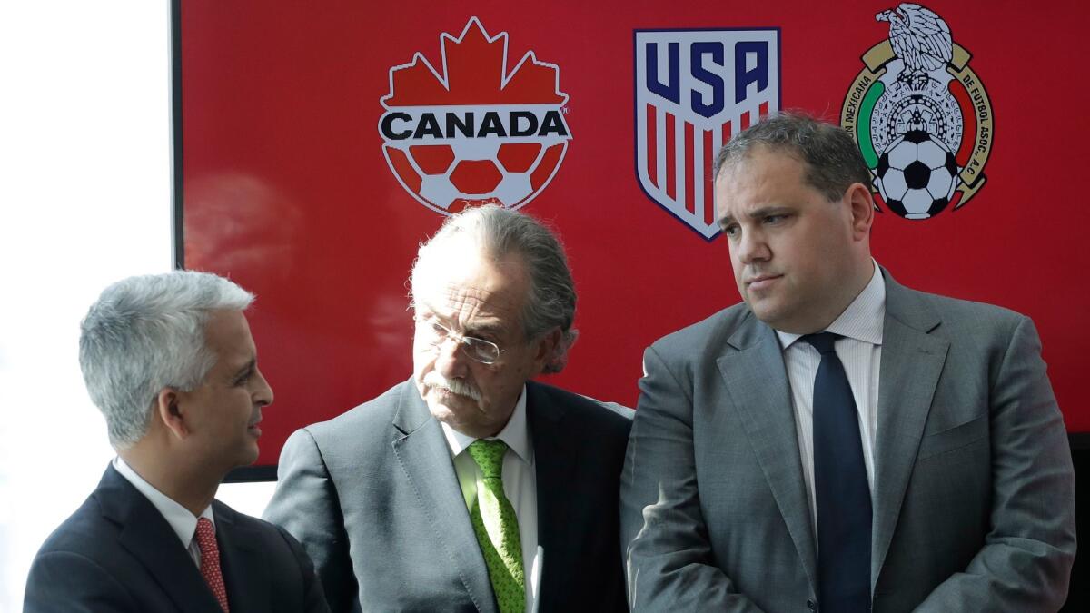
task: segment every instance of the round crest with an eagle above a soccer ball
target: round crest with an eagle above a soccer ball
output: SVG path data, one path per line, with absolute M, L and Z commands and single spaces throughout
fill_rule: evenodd
M 840 125 L 859 143 L 889 211 L 929 219 L 958 209 L 985 181 L 992 103 L 937 14 L 903 3 L 875 19 L 889 23 L 889 39 L 863 55 Z

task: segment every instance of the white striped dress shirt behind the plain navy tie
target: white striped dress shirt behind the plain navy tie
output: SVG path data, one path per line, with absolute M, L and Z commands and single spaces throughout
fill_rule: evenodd
M 872 260 L 873 262 L 873 260 Z M 844 364 L 844 372 L 851 385 L 851 395 L 859 413 L 859 435 L 863 446 L 863 465 L 867 482 L 874 497 L 874 434 L 879 423 L 879 369 L 882 364 L 882 326 L 885 322 L 885 284 L 882 272 L 874 262 L 874 274 L 859 296 L 840 313 L 827 328 L 843 336 L 834 344 L 837 358 Z M 807 483 L 810 514 L 818 532 L 818 506 L 814 501 L 814 454 L 813 454 L 813 397 L 814 378 L 821 364 L 821 353 L 806 341 L 797 342 L 802 336 L 776 330 L 784 351 L 787 380 L 791 385 L 791 402 L 795 405 L 795 430 L 799 438 L 799 455 L 802 458 L 802 478 Z

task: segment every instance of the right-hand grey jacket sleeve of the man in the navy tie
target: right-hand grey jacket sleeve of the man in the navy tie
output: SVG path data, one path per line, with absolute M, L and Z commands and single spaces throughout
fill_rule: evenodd
M 1075 558 L 1075 473 L 1033 323 L 990 374 L 991 529 L 918 611 L 1056 611 Z

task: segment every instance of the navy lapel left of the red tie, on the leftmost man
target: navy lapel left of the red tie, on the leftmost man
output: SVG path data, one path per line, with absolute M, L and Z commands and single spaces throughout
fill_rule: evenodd
M 98 485 L 102 516 L 121 526 L 121 546 L 137 558 L 182 611 L 216 611 L 219 603 L 170 524 L 112 466 Z

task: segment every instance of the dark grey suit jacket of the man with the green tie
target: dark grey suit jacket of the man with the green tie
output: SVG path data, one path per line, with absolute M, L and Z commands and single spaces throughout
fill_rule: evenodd
M 526 421 L 540 610 L 625 610 L 617 489 L 631 422 L 533 382 Z M 306 548 L 335 611 L 497 610 L 450 448 L 411 380 L 295 432 L 279 480 L 265 516 Z

